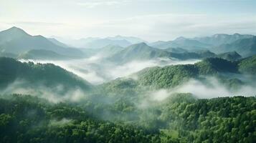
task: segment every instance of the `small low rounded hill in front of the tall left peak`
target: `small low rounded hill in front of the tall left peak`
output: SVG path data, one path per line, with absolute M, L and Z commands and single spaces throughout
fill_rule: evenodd
M 18 59 L 42 59 L 42 60 L 64 60 L 70 59 L 68 56 L 57 54 L 54 51 L 44 49 L 32 49 L 18 56 Z

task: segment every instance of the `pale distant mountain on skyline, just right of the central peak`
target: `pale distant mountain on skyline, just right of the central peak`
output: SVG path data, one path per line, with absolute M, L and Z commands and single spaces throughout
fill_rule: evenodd
M 149 45 L 158 49 L 181 48 L 188 51 L 202 50 L 210 46 L 209 44 L 204 44 L 194 39 L 186 39 L 184 37 L 179 37 L 174 41 L 157 41 Z

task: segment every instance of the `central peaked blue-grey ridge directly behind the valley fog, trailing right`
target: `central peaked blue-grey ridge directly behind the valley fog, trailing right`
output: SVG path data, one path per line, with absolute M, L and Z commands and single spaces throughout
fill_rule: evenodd
M 112 55 L 107 51 L 102 54 L 108 54 L 108 60 L 117 61 L 118 63 L 127 63 L 129 61 L 146 61 L 150 59 L 166 58 L 166 59 L 204 59 L 209 57 L 220 57 L 222 59 L 237 60 L 242 58 L 237 52 L 226 52 L 223 54 L 214 54 L 207 49 L 187 51 L 181 48 L 169 48 L 169 49 L 157 49 L 152 46 L 148 46 L 146 43 L 133 44 L 131 46 L 122 48 L 118 46 L 110 46 L 112 48 Z

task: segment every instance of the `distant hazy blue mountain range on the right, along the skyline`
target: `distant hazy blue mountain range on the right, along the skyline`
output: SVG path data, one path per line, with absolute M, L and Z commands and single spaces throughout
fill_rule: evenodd
M 216 54 L 236 51 L 243 57 L 256 54 L 255 36 L 249 34 L 214 34 L 213 36 L 179 37 L 174 41 L 157 41 L 149 44 L 158 49 L 209 50 Z

